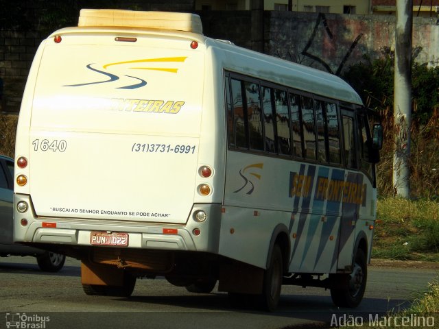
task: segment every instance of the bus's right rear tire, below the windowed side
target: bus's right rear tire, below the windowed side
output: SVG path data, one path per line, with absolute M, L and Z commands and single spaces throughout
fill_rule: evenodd
M 259 307 L 268 312 L 273 312 L 281 297 L 283 278 L 283 256 L 278 244 L 273 246 L 270 266 L 265 270 L 262 294 Z

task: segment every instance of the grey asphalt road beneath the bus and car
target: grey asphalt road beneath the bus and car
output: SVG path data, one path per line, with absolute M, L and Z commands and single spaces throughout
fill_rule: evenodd
M 131 298 L 88 296 L 78 260 L 68 258 L 51 274 L 39 271 L 32 257 L 0 258 L 0 328 L 17 316 L 27 328 L 42 329 L 328 328 L 335 317 L 367 319 L 404 308 L 437 275 L 438 269 L 369 267 L 365 298 L 355 310 L 333 306 L 324 289 L 286 286 L 276 313 L 261 313 L 231 308 L 227 295 L 216 289 L 198 295 L 163 278 L 137 280 Z

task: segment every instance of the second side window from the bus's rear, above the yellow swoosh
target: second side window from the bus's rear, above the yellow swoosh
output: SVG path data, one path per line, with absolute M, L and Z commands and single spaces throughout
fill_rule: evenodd
M 248 115 L 248 135 L 250 149 L 263 151 L 263 130 L 261 121 L 261 97 L 259 84 L 244 82 L 246 88 L 246 108 Z

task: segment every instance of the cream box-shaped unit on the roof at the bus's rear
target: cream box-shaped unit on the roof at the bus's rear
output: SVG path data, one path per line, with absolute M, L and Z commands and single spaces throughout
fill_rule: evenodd
M 147 27 L 202 34 L 200 16 L 183 12 L 141 12 L 134 10 L 82 9 L 80 27 Z

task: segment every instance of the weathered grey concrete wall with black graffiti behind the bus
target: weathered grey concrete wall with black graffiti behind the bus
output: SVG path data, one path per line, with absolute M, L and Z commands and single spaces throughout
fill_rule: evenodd
M 394 49 L 394 16 L 265 12 L 265 53 L 340 74 L 364 56 Z M 416 61 L 439 64 L 436 19 L 414 18 Z

